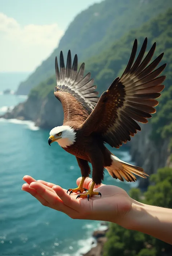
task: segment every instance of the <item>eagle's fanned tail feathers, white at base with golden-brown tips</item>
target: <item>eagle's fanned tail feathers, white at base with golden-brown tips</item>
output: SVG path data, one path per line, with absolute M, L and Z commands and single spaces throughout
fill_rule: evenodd
M 115 179 L 119 179 L 121 181 L 127 180 L 128 182 L 135 182 L 136 177 L 134 174 L 146 178 L 149 176 L 144 172 L 143 168 L 134 166 L 132 164 L 126 163 L 120 160 L 115 155 L 111 155 L 112 164 L 111 166 L 105 167 L 108 173 Z

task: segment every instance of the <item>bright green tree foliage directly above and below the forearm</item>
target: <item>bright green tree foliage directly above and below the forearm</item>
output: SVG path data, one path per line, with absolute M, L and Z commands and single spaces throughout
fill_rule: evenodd
M 139 202 L 172 208 L 172 169 L 159 169 L 151 175 L 151 181 L 153 185 L 144 193 L 144 200 L 140 199 L 142 193 L 138 188 L 132 188 L 130 196 Z M 172 245 L 117 224 L 110 225 L 107 237 L 103 256 L 170 256 L 172 252 Z

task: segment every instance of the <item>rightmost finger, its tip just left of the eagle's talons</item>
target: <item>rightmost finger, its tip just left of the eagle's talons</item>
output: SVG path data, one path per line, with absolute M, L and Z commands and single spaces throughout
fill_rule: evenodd
M 75 196 L 70 196 L 66 193 L 65 190 L 63 190 L 60 186 L 54 186 L 53 190 L 56 192 L 56 194 L 59 196 L 59 198 L 62 200 L 62 202 L 74 210 L 79 210 L 81 208 L 81 204 L 79 203 L 79 200 L 76 200 Z

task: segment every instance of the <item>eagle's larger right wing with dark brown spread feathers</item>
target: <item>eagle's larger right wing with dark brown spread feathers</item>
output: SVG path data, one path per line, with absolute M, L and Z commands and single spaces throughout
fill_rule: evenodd
M 95 109 L 81 126 L 86 135 L 97 132 L 110 146 L 119 148 L 122 143 L 130 141 L 130 136 L 134 136 L 137 130 L 141 130 L 135 120 L 147 123 L 147 118 L 151 118 L 151 114 L 156 112 L 154 107 L 159 103 L 156 98 L 160 97 L 160 92 L 164 89 L 161 83 L 165 80 L 165 76 L 159 74 L 166 64 L 155 69 L 163 53 L 149 64 L 156 43 L 142 61 L 146 48 L 147 38 L 134 62 L 137 40 L 134 41 L 124 73 L 120 78 L 117 77 L 102 94 Z

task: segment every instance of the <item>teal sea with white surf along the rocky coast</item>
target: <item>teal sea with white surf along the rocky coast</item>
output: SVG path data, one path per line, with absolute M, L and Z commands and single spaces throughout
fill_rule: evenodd
M 3 94 L 15 91 L 28 73 L 0 73 L 0 115 L 27 97 Z M 49 147 L 49 130 L 31 121 L 0 119 L 0 254 L 24 256 L 80 256 L 91 248 L 93 231 L 102 225 L 93 220 L 74 220 L 44 207 L 21 190 L 24 175 L 58 184 L 76 186 L 81 176 L 73 155 L 60 146 Z M 126 148 L 111 149 L 120 159 L 131 162 Z M 130 185 L 113 179 L 107 172 L 105 184 L 130 189 Z

